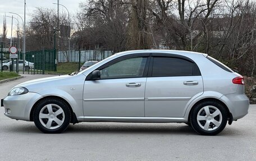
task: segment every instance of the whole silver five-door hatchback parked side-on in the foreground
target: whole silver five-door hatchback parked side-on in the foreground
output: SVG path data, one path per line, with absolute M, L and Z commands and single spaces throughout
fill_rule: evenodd
M 45 133 L 78 122 L 179 122 L 216 135 L 248 113 L 244 78 L 207 54 L 132 50 L 74 76 L 23 82 L 3 99 L 4 114 Z

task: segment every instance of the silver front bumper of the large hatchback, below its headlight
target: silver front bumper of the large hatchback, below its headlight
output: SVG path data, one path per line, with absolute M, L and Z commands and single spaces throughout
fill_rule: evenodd
M 4 115 L 13 119 L 30 121 L 30 111 L 40 98 L 43 96 L 31 92 L 7 96 L 3 99 Z

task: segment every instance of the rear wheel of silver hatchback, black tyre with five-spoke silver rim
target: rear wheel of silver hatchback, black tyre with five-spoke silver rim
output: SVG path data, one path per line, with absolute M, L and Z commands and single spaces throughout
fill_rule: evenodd
M 200 135 L 217 135 L 227 124 L 227 110 L 216 101 L 199 103 L 191 111 L 190 123 Z

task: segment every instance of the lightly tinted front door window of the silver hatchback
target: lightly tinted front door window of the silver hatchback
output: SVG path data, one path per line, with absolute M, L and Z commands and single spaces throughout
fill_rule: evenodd
M 117 62 L 100 70 L 101 79 L 142 77 L 147 57 L 134 57 Z

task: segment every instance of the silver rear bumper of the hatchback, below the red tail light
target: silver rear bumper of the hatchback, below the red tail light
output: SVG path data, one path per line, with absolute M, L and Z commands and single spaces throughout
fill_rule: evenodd
M 223 95 L 220 99 L 226 103 L 234 120 L 248 114 L 250 101 L 245 94 L 227 94 Z

